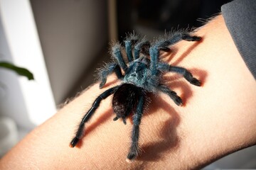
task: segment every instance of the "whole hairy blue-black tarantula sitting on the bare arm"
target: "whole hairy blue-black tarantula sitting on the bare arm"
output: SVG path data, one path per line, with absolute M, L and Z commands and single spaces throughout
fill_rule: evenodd
M 114 120 L 122 118 L 124 124 L 126 124 L 127 116 L 134 113 L 132 144 L 129 148 L 127 161 L 136 159 L 139 154 L 139 125 L 141 123 L 147 94 L 162 92 L 167 94 L 176 105 L 182 105 L 182 100 L 176 92 L 171 91 L 168 86 L 164 85 L 162 75 L 165 72 L 176 72 L 183 75 L 191 84 L 201 86 L 201 81 L 194 78 L 187 69 L 171 66 L 159 61 L 159 53 L 161 50 L 169 52 L 171 50 L 170 46 L 181 40 L 199 41 L 201 37 L 192 36 L 186 32 L 174 33 L 169 36 L 169 38 L 159 40 L 151 45 L 149 41 L 144 39 L 139 40 L 136 35 L 131 34 L 124 40 L 123 45 L 116 43 L 112 47 L 112 56 L 116 62 L 107 64 L 107 67 L 100 72 L 100 88 L 105 85 L 107 76 L 112 74 L 112 72 L 117 75 L 118 79 L 122 80 L 122 84 L 107 89 L 95 99 L 90 110 L 87 111 L 82 118 L 78 131 L 70 142 L 70 147 L 75 147 L 75 145 L 78 144 L 78 141 L 82 138 L 85 123 L 90 120 L 93 113 L 95 113 L 96 109 L 100 106 L 102 99 L 114 94 L 112 98 L 112 107 L 116 114 Z M 124 60 L 122 50 L 126 52 L 127 61 Z M 122 70 L 124 74 L 122 74 Z

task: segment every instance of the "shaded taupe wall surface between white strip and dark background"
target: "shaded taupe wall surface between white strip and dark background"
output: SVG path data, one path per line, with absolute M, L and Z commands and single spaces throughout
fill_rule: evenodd
M 53 95 L 61 103 L 107 49 L 107 1 L 31 0 L 31 5 Z

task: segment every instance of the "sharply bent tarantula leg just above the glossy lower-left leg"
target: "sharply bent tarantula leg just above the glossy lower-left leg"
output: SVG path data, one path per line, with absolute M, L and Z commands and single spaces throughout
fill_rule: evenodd
M 118 64 L 116 63 L 110 63 L 107 64 L 106 69 L 102 70 L 100 74 L 100 89 L 106 84 L 107 76 L 110 75 L 112 72 L 114 72 L 117 75 L 118 79 L 122 79 L 124 76 L 122 75 L 121 69 Z

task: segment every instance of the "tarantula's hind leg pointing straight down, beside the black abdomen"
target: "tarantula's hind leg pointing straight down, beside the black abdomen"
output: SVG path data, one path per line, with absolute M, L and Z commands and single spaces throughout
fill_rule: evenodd
M 133 117 L 133 128 L 132 128 L 132 145 L 127 155 L 127 161 L 135 159 L 139 154 L 139 125 L 142 120 L 143 108 L 144 108 L 145 97 L 144 95 L 139 97 L 137 104 L 137 111 Z

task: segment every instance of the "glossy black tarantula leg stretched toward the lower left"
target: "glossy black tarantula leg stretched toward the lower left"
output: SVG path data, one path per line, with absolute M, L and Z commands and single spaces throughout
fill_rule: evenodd
M 78 127 L 78 131 L 76 132 L 73 140 L 70 142 L 70 147 L 75 147 L 75 145 L 78 144 L 78 141 L 82 137 L 82 132 L 85 129 L 85 123 L 87 123 L 87 121 L 90 120 L 93 113 L 95 113 L 96 109 L 100 106 L 100 102 L 102 101 L 102 99 L 105 99 L 108 96 L 110 96 L 111 94 L 114 94 L 114 91 L 116 91 L 118 88 L 119 88 L 119 86 L 114 86 L 110 89 L 107 89 L 106 91 L 104 91 L 102 94 L 100 94 L 100 96 L 98 96 L 95 99 L 95 101 L 92 103 L 92 107 L 90 108 L 90 110 L 87 111 L 85 116 L 82 118 L 82 121 L 80 122 L 80 125 Z

